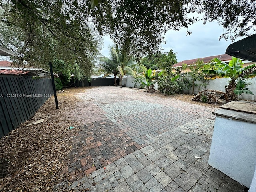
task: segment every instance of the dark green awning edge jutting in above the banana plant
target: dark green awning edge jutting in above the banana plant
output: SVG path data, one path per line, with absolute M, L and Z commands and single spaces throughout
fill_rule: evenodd
M 226 54 L 256 62 L 256 34 L 230 44 L 226 50 Z

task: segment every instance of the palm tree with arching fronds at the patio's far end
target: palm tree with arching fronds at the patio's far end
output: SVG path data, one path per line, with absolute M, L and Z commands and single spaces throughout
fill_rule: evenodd
M 120 54 L 117 46 L 109 46 L 110 58 L 100 57 L 101 66 L 107 73 L 114 74 L 114 82 L 116 83 L 116 76 L 119 75 L 119 85 L 122 85 L 122 78 L 124 75 L 134 75 L 136 72 L 132 69 L 136 66 L 135 59 L 127 59 L 126 55 Z

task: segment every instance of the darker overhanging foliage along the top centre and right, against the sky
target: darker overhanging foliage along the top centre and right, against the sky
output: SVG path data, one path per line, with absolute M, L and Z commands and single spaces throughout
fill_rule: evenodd
M 169 29 L 184 27 L 190 34 L 189 25 L 198 20 L 216 20 L 224 28 L 222 38 L 244 36 L 256 25 L 255 7 L 254 0 L 106 0 L 92 17 L 100 32 L 139 56 L 156 52 Z

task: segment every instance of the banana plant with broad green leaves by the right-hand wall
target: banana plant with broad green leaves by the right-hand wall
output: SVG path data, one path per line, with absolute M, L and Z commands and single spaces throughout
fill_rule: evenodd
M 244 82 L 242 79 L 244 78 L 252 78 L 256 76 L 256 64 L 251 64 L 246 67 L 242 67 L 243 63 L 240 59 L 232 57 L 232 60 L 226 64 L 222 62 L 220 59 L 215 58 L 216 62 L 215 69 L 203 70 L 202 72 L 205 74 L 211 74 L 208 78 L 224 78 L 229 77 L 231 80 L 229 81 L 228 86 L 226 87 L 226 94 L 228 96 L 229 101 L 235 101 L 238 98 L 238 94 L 250 93 L 244 88 Z M 238 92 L 238 90 L 240 90 Z

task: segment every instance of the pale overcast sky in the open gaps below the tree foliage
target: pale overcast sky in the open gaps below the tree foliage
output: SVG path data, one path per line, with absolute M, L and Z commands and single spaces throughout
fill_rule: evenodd
M 232 43 L 230 40 L 225 41 L 224 39 L 219 41 L 223 28 L 217 22 L 206 23 L 206 25 L 197 22 L 190 26 L 188 30 L 192 32 L 188 36 L 185 28 L 180 31 L 169 30 L 164 35 L 166 44 L 162 44 L 163 51 L 168 52 L 172 49 L 176 53 L 178 62 L 225 54 L 226 48 Z M 240 39 L 238 38 L 236 41 Z M 108 57 L 109 45 L 113 45 L 113 42 L 108 36 L 105 36 L 102 55 Z

